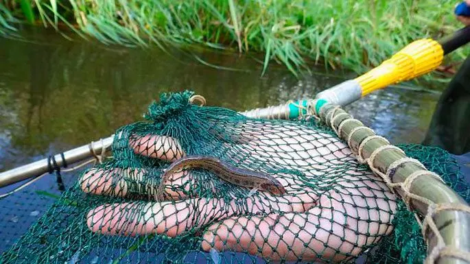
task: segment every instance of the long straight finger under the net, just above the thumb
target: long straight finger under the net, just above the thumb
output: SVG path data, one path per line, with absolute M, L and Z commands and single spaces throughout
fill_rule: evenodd
M 213 221 L 233 215 L 290 212 L 292 206 L 270 203 L 259 197 L 226 202 L 223 198 L 193 198 L 177 202 L 134 202 L 105 204 L 89 211 L 86 219 L 93 232 L 107 235 L 148 235 L 175 237 Z

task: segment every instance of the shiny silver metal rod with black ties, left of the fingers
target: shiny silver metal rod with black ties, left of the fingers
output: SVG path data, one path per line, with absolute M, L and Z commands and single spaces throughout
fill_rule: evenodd
M 100 153 L 103 148 L 109 150 L 111 144 L 113 144 L 113 138 L 114 136 L 110 136 L 106 139 L 82 145 L 81 147 L 64 152 L 63 155 L 65 160 L 62 159 L 62 155 L 60 154 L 54 155 L 53 158 L 55 158 L 58 167 L 64 166 L 65 163 L 71 164 L 82 161 L 86 158 L 91 158 L 94 156 L 94 153 Z M 51 167 L 54 167 L 54 165 L 50 164 L 51 160 L 52 157 L 44 158 L 34 163 L 0 173 L 0 187 L 5 187 L 15 182 L 20 182 L 21 180 L 33 178 L 48 172 Z

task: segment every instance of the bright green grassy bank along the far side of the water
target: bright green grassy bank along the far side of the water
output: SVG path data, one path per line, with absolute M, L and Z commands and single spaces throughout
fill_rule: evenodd
M 16 18 L 62 32 L 65 25 L 103 43 L 196 43 L 254 51 L 264 54 L 260 60 L 264 69 L 275 60 L 292 72 L 312 63 L 364 71 L 416 38 L 439 38 L 458 29 L 455 4 L 448 0 L 5 1 L 0 6 L 0 33 L 8 30 L 5 21 Z M 451 60 L 462 60 L 462 52 Z

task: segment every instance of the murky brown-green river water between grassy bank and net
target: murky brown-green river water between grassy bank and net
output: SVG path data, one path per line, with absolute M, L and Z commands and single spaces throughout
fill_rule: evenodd
M 191 89 L 211 106 L 234 110 L 313 97 L 345 75 L 300 79 L 237 54 L 207 53 L 201 64 L 182 51 L 106 47 L 32 32 L 34 42 L 0 39 L 0 170 L 105 137 L 138 121 L 165 91 Z M 350 77 L 350 76 L 349 76 Z M 348 109 L 393 143 L 419 142 L 437 95 L 398 88 L 380 91 Z

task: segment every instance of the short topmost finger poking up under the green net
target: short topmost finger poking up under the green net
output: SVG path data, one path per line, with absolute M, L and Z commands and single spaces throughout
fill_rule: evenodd
M 148 134 L 145 136 L 132 136 L 129 145 L 135 154 L 174 161 L 185 156 L 185 152 L 178 140 L 169 136 Z

